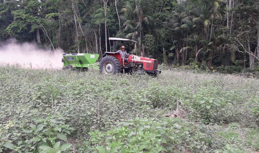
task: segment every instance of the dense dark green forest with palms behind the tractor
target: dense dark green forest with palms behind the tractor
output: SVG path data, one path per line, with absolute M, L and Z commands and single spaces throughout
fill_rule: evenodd
M 129 38 L 138 44 L 128 52 L 145 48 L 160 62 L 254 69 L 258 8 L 257 0 L 0 0 L 0 39 L 102 54 L 109 37 Z

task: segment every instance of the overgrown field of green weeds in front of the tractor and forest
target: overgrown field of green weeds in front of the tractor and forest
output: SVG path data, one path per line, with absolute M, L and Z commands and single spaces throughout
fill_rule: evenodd
M 0 67 L 0 152 L 257 152 L 259 80 Z

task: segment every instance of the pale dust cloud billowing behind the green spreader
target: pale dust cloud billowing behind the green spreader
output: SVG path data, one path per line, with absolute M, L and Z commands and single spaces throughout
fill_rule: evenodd
M 32 43 L 7 41 L 0 44 L 0 65 L 20 65 L 27 68 L 62 68 L 63 50 L 40 49 Z

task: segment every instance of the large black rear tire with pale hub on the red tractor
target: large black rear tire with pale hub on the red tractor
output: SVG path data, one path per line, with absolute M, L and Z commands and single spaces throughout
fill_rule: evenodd
M 120 73 L 120 61 L 114 56 L 105 56 L 100 62 L 100 72 L 105 74 Z

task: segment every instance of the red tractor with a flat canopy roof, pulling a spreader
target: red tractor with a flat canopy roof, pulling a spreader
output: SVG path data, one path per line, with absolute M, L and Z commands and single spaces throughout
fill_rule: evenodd
M 123 45 L 123 42 L 137 42 L 134 40 L 122 38 L 109 38 L 109 40 L 113 41 L 113 49 L 112 52 L 105 52 L 105 57 L 101 60 L 99 66 L 100 72 L 103 72 L 105 74 L 116 74 L 120 72 L 137 71 L 140 73 L 148 73 L 153 75 L 161 73 L 161 70 L 158 70 L 158 60 L 153 59 L 152 56 L 146 58 L 142 56 L 128 54 L 126 55 L 128 61 L 125 61 L 123 66 L 120 53 L 115 53 L 115 42 L 120 41 L 121 46 Z

